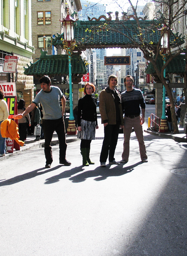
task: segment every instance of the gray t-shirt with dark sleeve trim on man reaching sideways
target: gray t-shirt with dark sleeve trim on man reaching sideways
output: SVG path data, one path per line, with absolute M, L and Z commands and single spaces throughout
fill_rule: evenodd
M 59 119 L 62 117 L 59 100 L 63 93 L 56 86 L 51 86 L 50 92 L 41 90 L 34 99 L 33 103 L 41 103 L 43 111 L 43 119 Z

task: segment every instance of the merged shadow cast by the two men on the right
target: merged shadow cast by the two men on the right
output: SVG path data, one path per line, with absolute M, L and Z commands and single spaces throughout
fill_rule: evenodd
M 124 174 L 130 173 L 131 171 L 134 170 L 134 168 L 136 166 L 138 166 L 142 163 L 143 162 L 141 161 L 141 162 L 138 162 L 136 164 L 133 164 L 133 165 L 130 165 L 130 166 L 127 166 L 127 167 L 123 167 L 123 165 L 120 164 L 120 165 L 116 165 L 112 169 L 108 169 L 108 168 L 99 166 L 99 167 L 95 168 L 95 170 L 85 171 L 84 173 L 80 173 L 76 176 L 73 176 L 69 180 L 71 180 L 74 183 L 84 182 L 86 179 L 91 178 L 91 177 L 96 177 L 94 179 L 96 181 L 105 180 L 108 177 L 122 176 Z

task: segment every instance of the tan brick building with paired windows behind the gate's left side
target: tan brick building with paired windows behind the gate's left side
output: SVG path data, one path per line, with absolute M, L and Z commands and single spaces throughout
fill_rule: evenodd
M 41 49 L 47 50 L 49 55 L 62 54 L 62 50 L 52 47 L 51 37 L 63 32 L 62 22 L 70 14 L 82 9 L 80 0 L 31 0 L 32 9 L 32 40 L 35 47 L 33 61 L 40 58 Z M 76 18 L 76 15 L 74 16 Z

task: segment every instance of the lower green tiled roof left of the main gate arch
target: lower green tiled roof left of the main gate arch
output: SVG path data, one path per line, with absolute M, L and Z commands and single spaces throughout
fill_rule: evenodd
M 71 73 L 72 74 L 87 74 L 84 61 L 80 55 L 71 55 Z M 24 74 L 28 76 L 43 76 L 46 75 L 68 75 L 69 61 L 68 55 L 46 55 L 43 51 L 40 59 L 25 68 Z

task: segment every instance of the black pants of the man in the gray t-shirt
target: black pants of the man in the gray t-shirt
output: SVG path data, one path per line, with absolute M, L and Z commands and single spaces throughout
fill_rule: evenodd
M 67 149 L 67 144 L 65 142 L 65 125 L 64 118 L 59 119 L 43 119 L 43 133 L 45 138 L 44 152 L 46 156 L 46 164 L 51 164 L 53 161 L 52 150 L 50 143 L 52 141 L 53 132 L 56 131 L 59 141 L 59 161 L 65 159 L 65 153 Z

